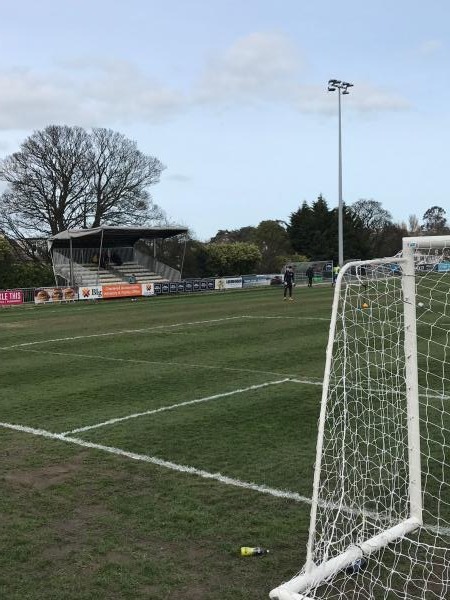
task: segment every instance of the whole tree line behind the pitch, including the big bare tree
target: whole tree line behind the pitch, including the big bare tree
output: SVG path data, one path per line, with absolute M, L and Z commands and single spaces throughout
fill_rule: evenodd
M 25 257 L 39 263 L 36 273 L 27 267 L 28 285 L 35 276 L 43 277 L 38 239 L 69 228 L 167 224 L 149 192 L 164 168 L 136 142 L 110 129 L 51 125 L 35 131 L 18 152 L 0 161 L 0 181 L 6 184 L 0 196 L 0 287 L 19 285 L 12 271 L 21 272 L 24 285 L 27 269 L 11 265 Z M 429 208 L 421 222 L 411 215 L 408 223 L 395 223 L 373 199 L 343 206 L 343 230 L 346 260 L 394 255 L 408 235 L 450 233 L 439 206 Z M 338 211 L 319 195 L 311 203 L 304 201 L 287 221 L 219 230 L 207 243 L 193 236 L 185 245 L 180 239 L 161 241 L 159 257 L 182 267 L 186 277 L 210 277 L 277 273 L 288 261 L 336 262 L 337 249 Z M 47 279 L 50 271 L 46 273 Z

